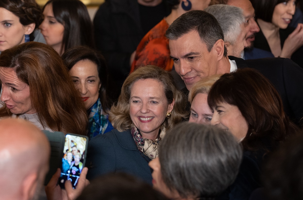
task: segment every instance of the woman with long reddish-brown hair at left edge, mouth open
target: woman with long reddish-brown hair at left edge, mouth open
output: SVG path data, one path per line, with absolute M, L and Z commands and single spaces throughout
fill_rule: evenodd
M 27 42 L 0 55 L 0 118 L 18 117 L 42 130 L 86 135 L 84 105 L 61 57 L 46 44 Z

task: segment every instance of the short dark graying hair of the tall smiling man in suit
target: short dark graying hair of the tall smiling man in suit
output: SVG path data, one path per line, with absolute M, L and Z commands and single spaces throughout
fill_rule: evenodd
M 177 40 L 190 31 L 197 31 L 201 41 L 207 46 L 208 52 L 219 40 L 224 40 L 224 34 L 220 24 L 214 16 L 201 10 L 193 10 L 178 17 L 167 29 L 165 37 L 169 40 Z M 224 56 L 227 50 L 224 47 Z

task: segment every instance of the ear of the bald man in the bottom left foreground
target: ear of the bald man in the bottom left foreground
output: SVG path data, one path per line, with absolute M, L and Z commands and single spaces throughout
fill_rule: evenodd
M 23 199 L 33 199 L 38 183 L 38 175 L 37 173 L 31 173 L 25 177 L 22 182 L 22 200 Z

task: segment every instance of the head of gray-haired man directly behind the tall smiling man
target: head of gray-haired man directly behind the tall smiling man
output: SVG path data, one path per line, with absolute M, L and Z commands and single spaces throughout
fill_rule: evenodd
M 205 11 L 214 15 L 220 24 L 227 55 L 241 58 L 241 53 L 247 47 L 243 10 L 231 5 L 218 4 L 209 6 Z

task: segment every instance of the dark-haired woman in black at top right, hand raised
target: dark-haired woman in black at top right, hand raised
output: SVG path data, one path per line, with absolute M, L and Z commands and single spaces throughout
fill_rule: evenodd
M 250 0 L 255 8 L 260 32 L 254 46 L 275 57 L 290 58 L 303 68 L 303 24 L 289 27 L 295 14 L 296 0 Z

